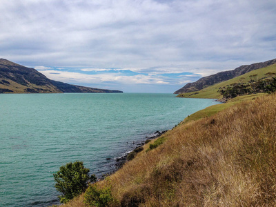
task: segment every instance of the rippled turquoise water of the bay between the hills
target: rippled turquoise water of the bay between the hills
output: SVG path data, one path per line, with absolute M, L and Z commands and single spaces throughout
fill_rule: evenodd
M 57 204 L 52 174 L 60 166 L 79 160 L 103 175 L 152 132 L 217 103 L 171 94 L 0 95 L 0 206 Z

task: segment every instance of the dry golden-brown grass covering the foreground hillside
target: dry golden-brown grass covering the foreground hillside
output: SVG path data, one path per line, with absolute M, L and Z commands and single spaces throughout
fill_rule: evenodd
M 139 152 L 109 177 L 119 201 L 110 206 L 276 206 L 276 95 L 164 136 L 164 144 Z

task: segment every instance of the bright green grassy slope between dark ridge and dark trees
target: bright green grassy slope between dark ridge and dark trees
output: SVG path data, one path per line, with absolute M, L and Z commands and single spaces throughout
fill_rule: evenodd
M 260 79 L 262 77 L 265 77 L 265 74 L 268 72 L 275 72 L 276 73 L 276 64 L 268 66 L 266 68 L 260 68 L 258 70 L 250 71 L 244 75 L 241 75 L 239 77 L 235 77 L 233 79 L 230 79 L 228 81 L 224 81 L 221 83 L 217 83 L 214 86 L 209 86 L 207 88 L 204 88 L 202 90 L 199 90 L 197 92 L 188 92 L 178 95 L 177 97 L 188 97 L 188 98 L 204 98 L 204 99 L 220 99 L 222 96 L 217 92 L 219 88 L 230 85 L 232 83 L 239 83 L 241 82 L 241 78 L 244 78 L 242 80 L 242 83 L 247 83 L 250 81 L 250 75 L 257 75 L 257 79 Z

